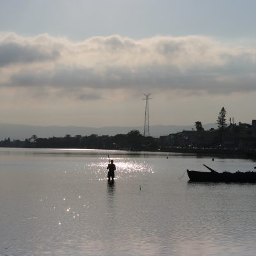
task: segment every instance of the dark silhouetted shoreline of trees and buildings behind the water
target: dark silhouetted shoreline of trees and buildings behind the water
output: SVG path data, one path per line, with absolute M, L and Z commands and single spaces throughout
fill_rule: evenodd
M 202 122 L 195 122 L 195 129 L 180 131 L 173 134 L 153 138 L 143 136 L 138 130 L 131 130 L 127 134 L 115 136 L 71 136 L 37 138 L 34 134 L 24 141 L 0 141 L 0 147 L 25 147 L 25 148 L 88 148 L 110 150 L 145 150 L 164 152 L 193 152 L 200 154 L 250 154 L 256 157 L 256 120 L 251 124 L 239 124 L 231 121 L 227 124 L 225 108 L 216 120 L 218 129 L 211 128 L 205 131 Z

